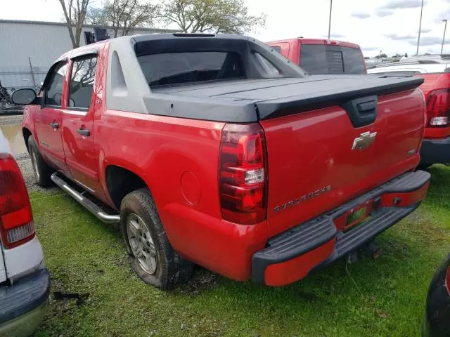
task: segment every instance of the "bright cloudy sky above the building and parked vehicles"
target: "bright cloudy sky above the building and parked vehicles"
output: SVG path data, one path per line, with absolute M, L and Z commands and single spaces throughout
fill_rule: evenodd
M 422 0 L 333 0 L 331 39 L 359 44 L 365 56 L 416 53 Z M 58 0 L 2 1 L 0 19 L 58 21 Z M 251 14 L 266 13 L 264 29 L 249 35 L 261 41 L 328 37 L 330 0 L 245 0 Z M 101 0 L 94 0 L 94 6 Z M 424 0 L 419 53 L 440 53 L 450 0 Z M 444 53 L 450 53 L 450 24 Z

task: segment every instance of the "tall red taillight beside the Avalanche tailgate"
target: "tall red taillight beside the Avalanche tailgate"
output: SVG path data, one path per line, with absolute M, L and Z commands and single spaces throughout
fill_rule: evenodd
M 226 124 L 221 134 L 222 218 L 252 225 L 266 218 L 266 141 L 259 124 Z

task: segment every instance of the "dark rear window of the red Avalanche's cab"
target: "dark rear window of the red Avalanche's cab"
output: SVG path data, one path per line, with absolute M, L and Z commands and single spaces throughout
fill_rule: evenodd
M 138 56 L 149 86 L 241 79 L 245 77 L 238 53 L 195 51 Z

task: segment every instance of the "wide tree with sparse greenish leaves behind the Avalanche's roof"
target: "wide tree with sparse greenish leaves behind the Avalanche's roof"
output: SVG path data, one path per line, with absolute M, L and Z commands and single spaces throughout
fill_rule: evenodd
M 163 13 L 185 33 L 244 34 L 266 25 L 266 15 L 250 15 L 243 0 L 169 0 Z

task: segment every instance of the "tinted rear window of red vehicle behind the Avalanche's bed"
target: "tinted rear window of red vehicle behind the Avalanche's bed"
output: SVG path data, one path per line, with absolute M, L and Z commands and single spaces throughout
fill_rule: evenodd
M 302 44 L 300 52 L 300 67 L 309 74 L 366 74 L 357 48 Z

